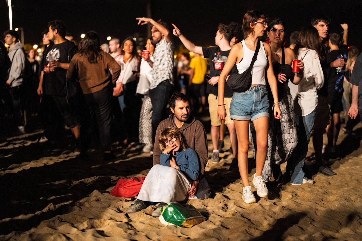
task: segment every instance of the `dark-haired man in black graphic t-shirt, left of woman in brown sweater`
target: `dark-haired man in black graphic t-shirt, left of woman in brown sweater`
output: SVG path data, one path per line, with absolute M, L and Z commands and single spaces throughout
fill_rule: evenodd
M 48 36 L 51 44 L 43 55 L 43 66 L 39 81 L 38 94 L 52 100 L 71 128 L 76 139 L 76 147 L 80 147 L 80 126 L 67 99 L 67 69 L 77 49 L 73 42 L 65 39 L 66 27 L 62 21 L 55 20 L 48 23 Z M 54 140 L 52 140 L 54 141 Z

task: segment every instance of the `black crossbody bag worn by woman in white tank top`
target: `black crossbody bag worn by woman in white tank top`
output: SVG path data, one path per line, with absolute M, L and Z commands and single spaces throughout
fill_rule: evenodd
M 227 79 L 226 86 L 232 89 L 234 92 L 244 92 L 250 88 L 252 82 L 252 70 L 256 61 L 256 57 L 258 56 L 259 49 L 260 41 L 258 41 L 256 44 L 255 53 L 249 68 L 247 68 L 241 74 L 239 74 L 239 72 L 236 70 L 235 72 L 231 73 Z

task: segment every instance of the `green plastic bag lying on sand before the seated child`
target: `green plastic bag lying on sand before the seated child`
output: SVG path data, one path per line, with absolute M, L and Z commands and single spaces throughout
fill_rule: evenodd
M 159 219 L 164 225 L 175 224 L 186 228 L 191 228 L 206 220 L 192 205 L 182 206 L 178 202 L 172 202 L 164 206 Z

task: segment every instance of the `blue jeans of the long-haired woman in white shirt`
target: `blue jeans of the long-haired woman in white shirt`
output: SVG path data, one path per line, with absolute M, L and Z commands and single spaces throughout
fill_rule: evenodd
M 287 172 L 291 174 L 290 182 L 293 184 L 302 184 L 303 179 L 307 179 L 304 175 L 303 167 L 308 152 L 309 140 L 313 133 L 316 109 L 317 108 L 306 116 L 297 116 L 296 128 L 298 133 L 298 144 L 286 167 Z

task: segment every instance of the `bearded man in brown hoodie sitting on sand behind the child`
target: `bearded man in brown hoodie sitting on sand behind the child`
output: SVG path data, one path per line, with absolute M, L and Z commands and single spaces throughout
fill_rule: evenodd
M 191 190 L 188 192 L 188 197 L 197 195 L 200 199 L 209 198 L 210 188 L 204 176 L 208 159 L 205 128 L 200 121 L 190 115 L 190 104 L 185 94 L 174 92 L 169 104 L 172 114 L 169 115 L 168 119 L 161 121 L 156 130 L 155 145 L 153 147 L 153 165 L 160 164 L 161 150 L 158 145 L 160 132 L 169 125 L 176 127 L 184 135 L 187 145 L 196 151 L 199 158 L 199 177 L 193 182 Z

